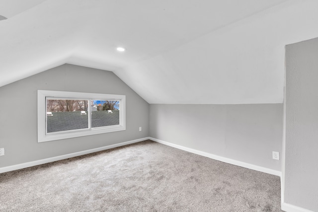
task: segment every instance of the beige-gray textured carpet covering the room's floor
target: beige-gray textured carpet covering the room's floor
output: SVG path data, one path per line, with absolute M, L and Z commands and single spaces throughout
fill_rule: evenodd
M 142 141 L 0 174 L 1 212 L 280 212 L 280 178 Z

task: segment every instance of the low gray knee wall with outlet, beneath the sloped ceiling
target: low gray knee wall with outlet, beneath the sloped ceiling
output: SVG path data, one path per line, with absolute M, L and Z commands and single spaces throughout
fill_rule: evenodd
M 150 136 L 281 171 L 283 104 L 150 105 Z

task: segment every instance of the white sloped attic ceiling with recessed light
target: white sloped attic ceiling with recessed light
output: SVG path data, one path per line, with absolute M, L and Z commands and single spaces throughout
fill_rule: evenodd
M 284 46 L 318 37 L 317 10 L 317 0 L 0 0 L 0 86 L 69 63 L 113 71 L 149 103 L 281 103 Z

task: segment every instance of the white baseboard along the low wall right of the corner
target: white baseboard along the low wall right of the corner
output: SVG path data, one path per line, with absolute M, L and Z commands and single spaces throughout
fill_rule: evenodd
M 199 154 L 199 155 L 202 155 L 202 156 L 205 156 L 205 157 L 209 157 L 209 158 L 212 158 L 212 159 L 215 159 L 215 160 L 219 160 L 219 161 L 222 161 L 222 162 L 225 162 L 225 163 L 230 163 L 230 164 L 241 166 L 241 167 L 244 167 L 244 168 L 248 168 L 248 169 L 252 169 L 252 170 L 256 170 L 256 171 L 261 171 L 261 172 L 264 172 L 264 173 L 267 173 L 267 174 L 277 175 L 279 177 L 281 177 L 281 175 L 282 175 L 282 172 L 276 171 L 276 170 L 273 170 L 273 169 L 269 169 L 269 168 L 265 168 L 265 167 L 261 167 L 261 166 L 256 166 L 256 165 L 253 165 L 253 164 L 250 164 L 250 163 L 245 163 L 245 162 L 241 162 L 239 160 L 234 160 L 234 159 L 230 159 L 230 158 L 227 158 L 227 157 L 222 157 L 222 156 L 218 156 L 218 155 L 215 155 L 215 154 L 207 153 L 207 152 L 204 152 L 204 151 L 196 150 L 196 149 L 193 149 L 193 148 L 184 147 L 184 146 L 177 145 L 177 144 L 174 144 L 174 143 L 170 143 L 170 142 L 167 142 L 167 141 L 161 141 L 161 140 L 155 139 L 155 138 L 149 138 L 149 139 L 152 140 L 152 141 L 156 141 L 156 142 L 168 145 L 168 146 L 172 146 L 172 147 L 175 147 L 175 148 L 178 148 L 178 149 L 182 149 L 184 151 L 188 151 L 188 152 L 191 152 L 191 153 L 194 153 L 194 154 Z

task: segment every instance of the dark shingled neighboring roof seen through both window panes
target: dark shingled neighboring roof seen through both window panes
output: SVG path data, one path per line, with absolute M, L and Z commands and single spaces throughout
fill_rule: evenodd
M 119 110 L 92 111 L 92 128 L 119 125 Z M 87 112 L 86 112 L 87 113 Z M 52 112 L 53 116 L 47 116 L 47 132 L 60 132 L 88 128 L 88 116 L 76 112 Z

